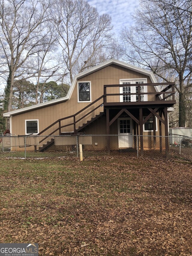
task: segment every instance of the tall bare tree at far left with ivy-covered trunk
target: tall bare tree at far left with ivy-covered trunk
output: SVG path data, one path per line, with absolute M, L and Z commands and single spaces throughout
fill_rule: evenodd
M 28 75 L 24 64 L 42 44 L 50 5 L 49 0 L 0 1 L 0 44 L 7 67 L 1 70 L 7 81 L 4 111 L 11 111 L 15 78 Z

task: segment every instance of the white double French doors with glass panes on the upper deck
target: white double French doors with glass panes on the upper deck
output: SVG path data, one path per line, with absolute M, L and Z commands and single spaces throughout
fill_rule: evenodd
M 147 92 L 147 86 L 141 85 L 147 83 L 147 78 L 120 79 L 119 84 L 125 84 L 125 87 L 119 87 L 119 93 L 133 93 L 134 95 L 120 95 L 120 102 L 147 101 L 147 95 L 137 95 L 138 86 L 129 86 L 129 84 L 140 84 L 140 92 Z

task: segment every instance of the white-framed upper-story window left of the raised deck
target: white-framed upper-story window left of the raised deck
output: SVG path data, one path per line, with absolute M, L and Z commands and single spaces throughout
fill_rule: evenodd
M 91 81 L 77 82 L 78 102 L 91 102 Z

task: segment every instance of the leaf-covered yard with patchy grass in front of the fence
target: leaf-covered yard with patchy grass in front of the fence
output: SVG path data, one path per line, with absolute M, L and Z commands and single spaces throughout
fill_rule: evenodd
M 191 165 L 2 160 L 0 242 L 39 255 L 192 255 Z

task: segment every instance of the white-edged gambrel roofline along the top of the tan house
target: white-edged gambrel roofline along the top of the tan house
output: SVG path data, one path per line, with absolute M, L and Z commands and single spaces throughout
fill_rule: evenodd
M 55 103 L 67 101 L 67 100 L 70 99 L 70 97 L 72 95 L 72 92 L 73 92 L 73 89 L 74 89 L 74 87 L 76 85 L 76 82 L 77 82 L 77 80 L 79 78 L 82 78 L 82 77 L 84 77 L 86 75 L 89 75 L 89 74 L 91 74 L 91 73 L 93 73 L 95 71 L 98 71 L 101 68 L 105 68 L 105 67 L 107 67 L 107 66 L 109 66 L 111 64 L 115 64 L 115 65 L 121 66 L 123 68 L 128 68 L 128 69 L 130 69 L 132 71 L 136 71 L 136 72 L 139 72 L 141 74 L 147 75 L 147 76 L 150 77 L 152 83 L 157 83 L 157 80 L 156 80 L 156 78 L 155 78 L 155 76 L 154 76 L 154 74 L 152 72 L 147 71 L 147 70 L 145 70 L 143 68 L 135 67 L 135 66 L 133 66 L 131 64 L 128 64 L 128 63 L 125 63 L 125 62 L 122 62 L 122 61 L 119 61 L 119 60 L 116 60 L 116 59 L 110 59 L 110 60 L 108 60 L 106 62 L 101 63 L 100 65 L 97 65 L 97 66 L 95 66 L 93 68 L 90 68 L 90 69 L 88 69 L 88 70 L 86 70 L 84 72 L 81 72 L 81 73 L 77 74 L 74 77 L 74 79 L 73 79 L 73 82 L 72 82 L 72 84 L 70 86 L 70 89 L 69 89 L 66 97 L 62 97 L 62 98 L 59 98 L 59 99 L 56 99 L 56 100 L 52 100 L 52 101 L 46 101 L 46 102 L 39 103 L 39 104 L 30 106 L 30 107 L 24 107 L 24 108 L 18 109 L 18 110 L 13 110 L 11 112 L 4 113 L 3 116 L 10 117 L 10 116 L 16 115 L 18 113 L 22 113 L 22 112 L 34 110 L 34 109 L 37 109 L 37 108 L 46 107 L 48 105 L 52 105 L 52 104 L 55 104 Z M 160 86 L 154 86 L 154 87 L 155 87 L 157 92 L 161 91 Z

